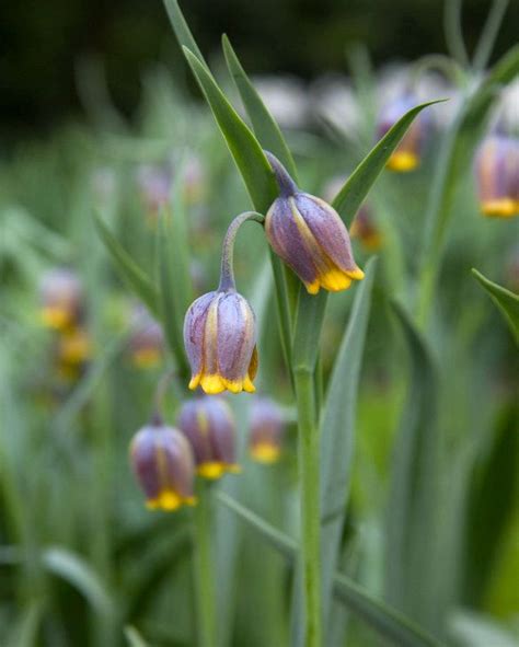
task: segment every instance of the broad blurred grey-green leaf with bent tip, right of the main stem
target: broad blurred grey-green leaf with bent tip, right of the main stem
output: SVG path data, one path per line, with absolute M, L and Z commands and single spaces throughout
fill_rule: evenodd
M 425 339 L 391 303 L 408 349 L 407 398 L 396 435 L 388 506 L 387 598 L 425 626 L 438 624 L 435 594 L 438 384 Z M 427 586 L 424 586 L 427 581 Z M 436 624 L 435 624 L 436 622 Z

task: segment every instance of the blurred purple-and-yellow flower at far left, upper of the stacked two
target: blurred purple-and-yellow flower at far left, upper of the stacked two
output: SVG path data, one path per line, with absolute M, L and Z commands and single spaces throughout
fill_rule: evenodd
M 83 290 L 76 273 L 66 268 L 47 271 L 39 287 L 42 322 L 49 328 L 64 331 L 82 317 Z

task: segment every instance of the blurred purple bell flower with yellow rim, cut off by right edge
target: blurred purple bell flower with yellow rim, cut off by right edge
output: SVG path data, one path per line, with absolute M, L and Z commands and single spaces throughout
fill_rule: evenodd
M 481 210 L 485 216 L 519 216 L 519 139 L 489 135 L 475 159 Z

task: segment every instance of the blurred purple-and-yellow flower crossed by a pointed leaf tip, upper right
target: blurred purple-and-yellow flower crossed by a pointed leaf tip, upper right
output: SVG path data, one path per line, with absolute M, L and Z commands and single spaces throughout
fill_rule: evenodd
M 419 103 L 412 94 L 404 94 L 385 104 L 379 115 L 377 136 L 380 139 L 411 108 Z M 391 171 L 406 173 L 414 171 L 420 161 L 427 134 L 430 129 L 430 117 L 427 113 L 419 114 L 405 131 L 399 146 L 392 152 L 387 166 Z

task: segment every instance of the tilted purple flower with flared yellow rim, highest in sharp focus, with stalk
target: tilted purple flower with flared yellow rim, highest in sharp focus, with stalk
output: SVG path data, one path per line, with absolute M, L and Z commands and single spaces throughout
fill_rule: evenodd
M 337 292 L 364 278 L 351 253 L 346 226 L 333 207 L 302 193 L 282 164 L 265 151 L 279 186 L 279 197 L 265 218 L 273 250 L 303 281 L 310 294 L 320 288 Z

